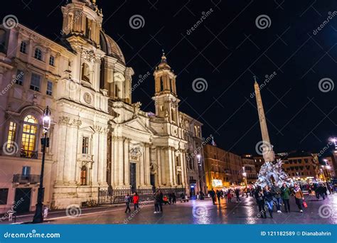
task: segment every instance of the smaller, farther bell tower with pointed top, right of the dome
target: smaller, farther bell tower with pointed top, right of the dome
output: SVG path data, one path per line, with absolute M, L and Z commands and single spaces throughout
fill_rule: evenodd
M 165 53 L 161 56 L 161 62 L 154 70 L 156 117 L 179 125 L 178 99 L 176 95 L 176 75 L 167 63 Z

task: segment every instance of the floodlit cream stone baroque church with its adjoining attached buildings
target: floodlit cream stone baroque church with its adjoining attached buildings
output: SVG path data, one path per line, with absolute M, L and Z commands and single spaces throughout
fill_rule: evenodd
M 0 212 L 18 201 L 17 211 L 35 209 L 47 106 L 45 205 L 80 205 L 107 188 L 204 191 L 203 124 L 179 111 L 166 56 L 154 70 L 155 114 L 141 111 L 134 70 L 95 1 L 72 0 L 62 13 L 63 44 L 21 24 L 0 28 Z

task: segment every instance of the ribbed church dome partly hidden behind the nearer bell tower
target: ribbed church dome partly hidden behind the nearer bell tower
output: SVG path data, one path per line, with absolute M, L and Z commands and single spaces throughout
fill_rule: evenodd
M 103 31 L 100 31 L 100 49 L 107 53 L 107 55 L 117 58 L 120 63 L 125 64 L 122 50 L 117 43 Z

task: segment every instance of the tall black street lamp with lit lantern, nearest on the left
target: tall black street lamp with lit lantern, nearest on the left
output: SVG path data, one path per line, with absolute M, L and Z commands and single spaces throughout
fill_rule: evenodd
M 40 175 L 40 186 L 38 187 L 38 203 L 36 204 L 35 215 L 33 217 L 33 223 L 41 223 L 43 222 L 43 172 L 45 167 L 45 155 L 46 148 L 49 146 L 49 139 L 47 137 L 48 131 L 50 129 L 50 109 L 47 106 L 46 109 L 43 110 L 43 138 L 41 139 L 42 144 L 42 163 L 41 163 L 41 175 Z

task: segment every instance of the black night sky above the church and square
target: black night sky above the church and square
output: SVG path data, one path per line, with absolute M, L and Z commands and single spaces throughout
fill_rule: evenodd
M 60 41 L 65 1 L 5 3 L 1 18 L 14 14 L 19 23 Z M 203 122 L 203 136 L 212 134 L 220 148 L 255 153 L 262 140 L 253 75 L 262 83 L 276 73 L 261 90 L 274 151 L 318 152 L 337 136 L 336 1 L 97 0 L 97 5 L 105 33 L 134 69 L 133 84 L 139 75 L 152 74 L 164 49 L 178 75 L 179 109 Z M 130 26 L 134 15 L 144 19 L 141 28 Z M 256 23 L 258 16 L 267 26 Z M 193 90 L 197 78 L 207 82 L 207 90 Z M 153 95 L 150 75 L 132 99 L 154 112 Z

